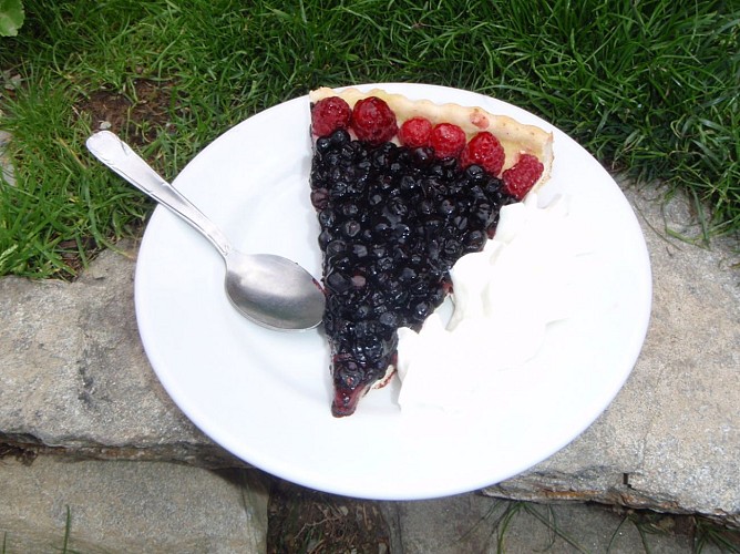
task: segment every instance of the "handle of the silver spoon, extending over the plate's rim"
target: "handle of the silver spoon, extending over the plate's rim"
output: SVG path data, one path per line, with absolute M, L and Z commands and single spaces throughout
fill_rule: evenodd
M 114 133 L 100 131 L 90 136 L 85 144 L 109 168 L 203 233 L 226 258 L 232 247 L 218 227 Z

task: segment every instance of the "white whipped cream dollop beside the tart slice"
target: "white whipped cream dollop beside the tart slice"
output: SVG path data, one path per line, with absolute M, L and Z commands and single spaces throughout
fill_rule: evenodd
M 445 302 L 419 332 L 399 329 L 403 410 L 464 410 L 495 387 L 501 371 L 522 368 L 536 356 L 548 325 L 578 309 L 588 239 L 571 198 L 537 204 L 531 193 L 504 206 L 483 250 L 455 264 L 451 317 Z

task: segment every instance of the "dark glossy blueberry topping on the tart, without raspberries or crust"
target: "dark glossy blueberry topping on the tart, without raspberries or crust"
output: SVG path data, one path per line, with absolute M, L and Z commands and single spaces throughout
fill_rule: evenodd
M 397 329 L 419 329 L 443 301 L 449 270 L 492 236 L 515 202 L 479 165 L 425 147 L 371 145 L 345 130 L 316 142 L 311 203 L 321 226 L 332 348 L 332 411 L 348 416 L 394 362 Z

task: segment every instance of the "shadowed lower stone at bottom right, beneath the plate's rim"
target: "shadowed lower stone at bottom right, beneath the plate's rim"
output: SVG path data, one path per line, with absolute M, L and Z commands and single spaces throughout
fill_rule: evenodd
M 390 551 L 404 554 L 695 552 L 691 532 L 680 529 L 680 520 L 656 517 L 648 525 L 604 506 L 496 501 L 477 494 L 382 506 Z

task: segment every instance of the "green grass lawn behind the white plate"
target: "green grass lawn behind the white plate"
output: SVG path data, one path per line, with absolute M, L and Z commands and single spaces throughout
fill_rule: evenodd
M 70 278 L 141 233 L 152 204 L 82 146 L 101 93 L 125 100 L 114 131 L 174 176 L 229 126 L 318 85 L 475 90 L 615 172 L 686 192 L 703 238 L 740 229 L 733 1 L 28 0 L 25 12 L 0 41 L 17 181 L 0 183 L 0 275 Z

